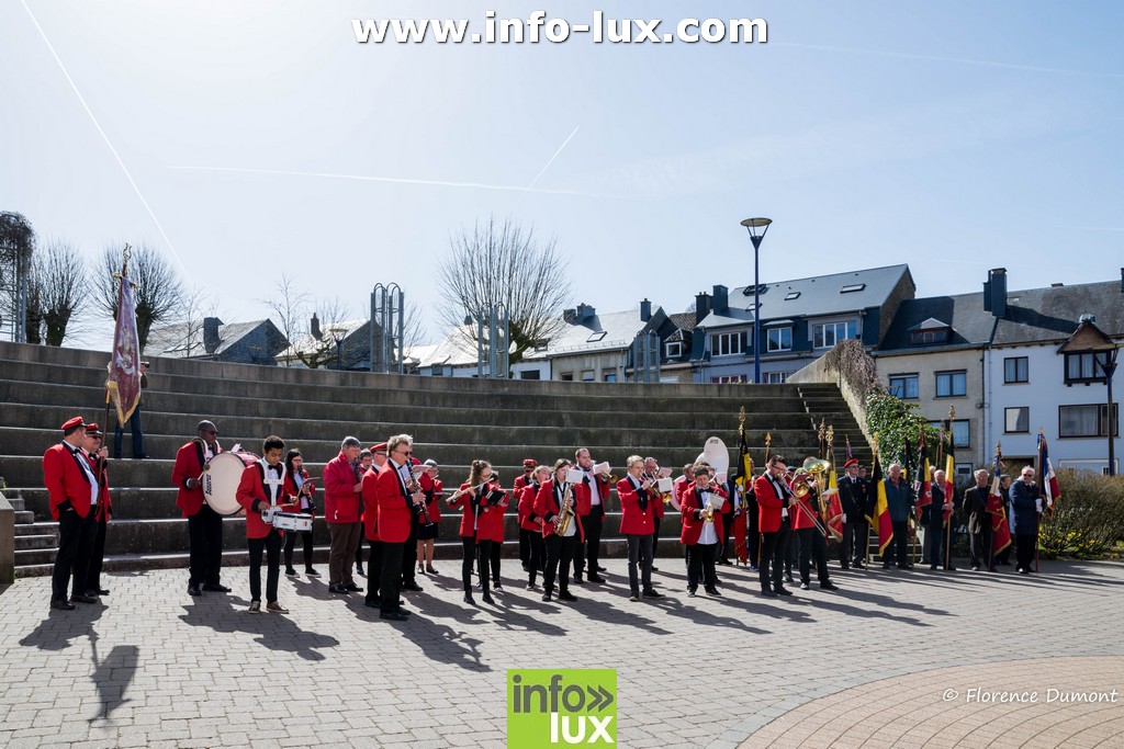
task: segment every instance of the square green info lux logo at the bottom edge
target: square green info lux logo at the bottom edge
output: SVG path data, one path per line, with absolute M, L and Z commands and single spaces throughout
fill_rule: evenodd
M 615 668 L 508 669 L 507 746 L 615 746 L 616 695 Z

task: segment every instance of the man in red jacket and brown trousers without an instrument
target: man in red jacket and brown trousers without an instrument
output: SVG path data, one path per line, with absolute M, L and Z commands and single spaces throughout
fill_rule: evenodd
M 324 466 L 324 520 L 328 523 L 328 592 L 347 595 L 363 588 L 352 577 L 352 559 L 363 536 L 359 521 L 363 474 L 359 454 L 363 446 L 354 437 L 345 437 L 339 455 Z

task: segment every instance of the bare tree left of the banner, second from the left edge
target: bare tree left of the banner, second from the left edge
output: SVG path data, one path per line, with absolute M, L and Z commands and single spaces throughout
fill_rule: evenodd
M 88 301 L 85 276 L 85 262 L 67 241 L 51 240 L 45 250 L 36 254 L 31 264 L 31 298 L 37 322 L 45 327 L 43 338 L 47 346 L 62 346 L 67 332 L 82 332 L 81 312 Z M 30 340 L 33 304 L 28 307 Z

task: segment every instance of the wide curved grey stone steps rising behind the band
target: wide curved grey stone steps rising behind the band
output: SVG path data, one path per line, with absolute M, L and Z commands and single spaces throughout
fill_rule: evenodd
M 108 354 L 0 342 L 0 475 L 6 496 L 19 503 L 16 530 L 17 576 L 48 574 L 56 523 L 43 488 L 42 456 L 61 438 L 58 426 L 72 415 L 105 420 Z M 588 447 L 595 460 L 608 460 L 623 476 L 629 455 L 655 456 L 679 468 L 698 456 L 707 437 L 718 436 L 736 462 L 738 410 L 746 410 L 751 455 L 760 465 L 765 432 L 772 451 L 803 460 L 816 449 L 821 419 L 835 428 L 836 444 L 851 438 L 860 459 L 869 460 L 853 415 L 831 384 L 801 385 L 643 385 L 484 381 L 363 372 L 257 367 L 211 362 L 153 359 L 145 391 L 145 460 L 111 460 L 115 509 L 107 536 L 107 569 L 187 566 L 187 522 L 175 508 L 171 485 L 175 450 L 194 436 L 196 423 L 210 419 L 229 449 L 241 442 L 259 453 L 270 433 L 299 447 L 309 473 L 319 476 L 347 435 L 364 445 L 395 433 L 410 433 L 415 455 L 441 465 L 446 487 L 455 488 L 475 458 L 492 463 L 506 486 L 522 473 L 524 458 L 552 463 Z M 112 435 L 107 444 L 112 446 Z M 130 455 L 129 435 L 125 455 Z M 839 451 L 842 457 L 842 450 Z M 26 508 L 26 509 L 25 509 Z M 445 512 L 438 556 L 460 557 L 459 513 Z M 615 499 L 605 529 L 605 552 L 624 554 L 617 535 Z M 243 521 L 225 521 L 229 563 L 246 558 Z M 315 529 L 317 556 L 326 556 L 327 530 Z M 679 554 L 678 523 L 664 521 L 661 550 Z M 507 551 L 517 545 L 509 513 Z M 298 554 L 298 557 L 300 555 Z

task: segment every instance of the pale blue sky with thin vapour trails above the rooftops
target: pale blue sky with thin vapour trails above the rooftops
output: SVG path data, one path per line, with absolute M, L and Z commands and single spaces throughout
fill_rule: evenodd
M 761 18 L 751 44 L 359 44 L 353 19 Z M 490 216 L 573 303 L 683 311 L 908 263 L 917 296 L 1120 277 L 1124 3 L 0 0 L 0 210 L 88 259 L 145 243 L 225 322 L 282 273 L 443 335 L 437 267 Z M 550 283 L 551 280 L 543 280 Z M 100 327 L 103 327 L 102 331 Z M 111 323 L 67 345 L 108 348 Z

